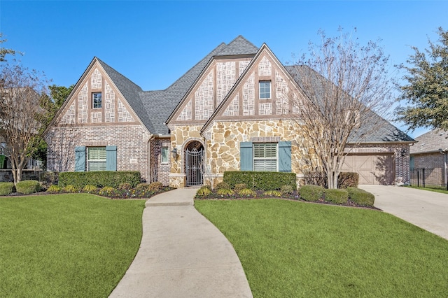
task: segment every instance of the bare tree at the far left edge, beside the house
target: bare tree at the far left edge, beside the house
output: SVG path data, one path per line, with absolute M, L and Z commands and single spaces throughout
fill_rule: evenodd
M 22 179 L 34 138 L 48 118 L 45 77 L 22 64 L 0 66 L 0 134 L 6 140 L 14 183 Z

